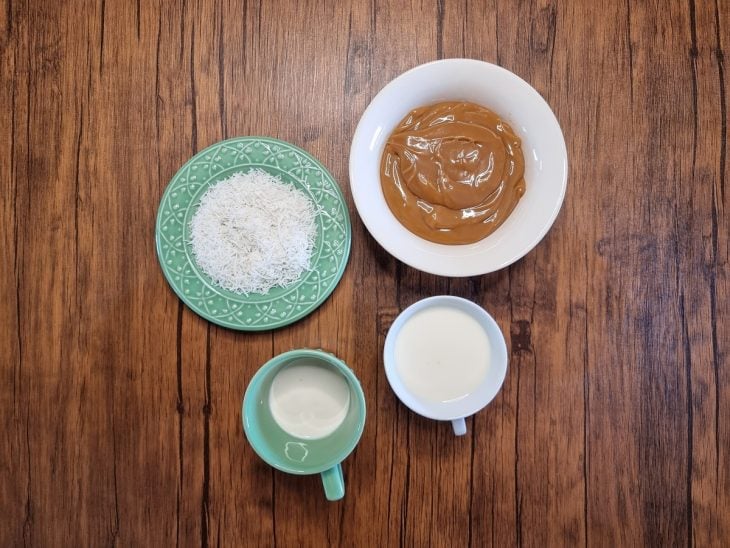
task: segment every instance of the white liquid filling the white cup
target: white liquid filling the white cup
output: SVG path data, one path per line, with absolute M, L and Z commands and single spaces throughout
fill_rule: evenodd
M 421 310 L 406 321 L 395 341 L 395 363 L 405 387 L 417 398 L 448 402 L 468 396 L 484 381 L 490 345 L 484 328 L 449 306 Z

